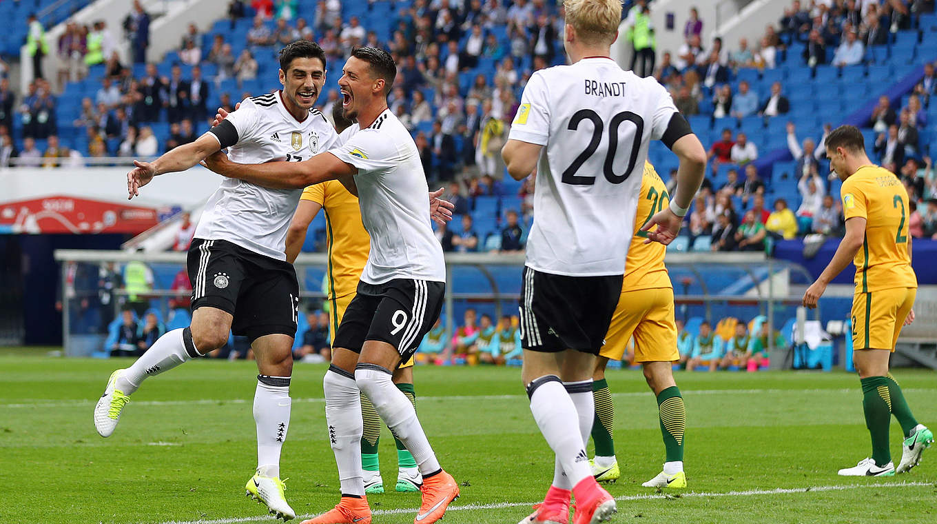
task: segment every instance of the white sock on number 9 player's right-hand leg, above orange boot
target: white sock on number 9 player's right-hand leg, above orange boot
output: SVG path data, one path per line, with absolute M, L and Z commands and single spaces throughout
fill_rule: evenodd
M 420 474 L 439 472 L 439 460 L 436 459 L 423 427 L 420 426 L 416 410 L 404 392 L 394 385 L 392 376 L 388 369 L 373 364 L 359 364 L 354 370 L 358 387 L 374 404 L 374 409 L 384 424 L 407 446 L 420 468 Z

